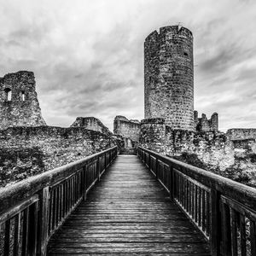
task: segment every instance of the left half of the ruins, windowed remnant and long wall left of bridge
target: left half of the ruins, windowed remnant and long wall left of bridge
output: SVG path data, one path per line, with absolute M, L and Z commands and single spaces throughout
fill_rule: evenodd
M 46 125 L 32 72 L 0 78 L 0 187 L 118 144 L 99 119 L 68 128 Z

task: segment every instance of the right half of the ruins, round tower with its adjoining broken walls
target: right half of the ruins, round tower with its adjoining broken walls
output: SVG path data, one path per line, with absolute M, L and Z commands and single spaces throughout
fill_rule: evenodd
M 114 119 L 114 133 L 127 146 L 141 145 L 173 157 L 194 155 L 215 170 L 237 164 L 237 151 L 256 153 L 256 129 L 218 131 L 218 113 L 207 119 L 194 110 L 193 35 L 187 28 L 165 26 L 144 43 L 144 118 L 135 125 Z

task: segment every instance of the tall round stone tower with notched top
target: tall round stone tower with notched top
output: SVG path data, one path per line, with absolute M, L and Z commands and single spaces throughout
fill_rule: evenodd
M 193 35 L 164 26 L 144 43 L 145 119 L 162 118 L 172 129 L 195 130 Z

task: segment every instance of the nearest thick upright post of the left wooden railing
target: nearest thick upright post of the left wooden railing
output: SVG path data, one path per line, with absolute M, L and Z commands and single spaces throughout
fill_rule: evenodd
M 39 193 L 38 212 L 38 246 L 37 255 L 46 255 L 49 224 L 49 187 L 45 187 Z

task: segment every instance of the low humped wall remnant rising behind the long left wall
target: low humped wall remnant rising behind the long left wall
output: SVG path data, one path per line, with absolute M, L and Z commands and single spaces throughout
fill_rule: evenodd
M 95 117 L 77 117 L 70 127 L 84 127 L 92 131 L 100 131 L 107 135 L 112 135 L 112 132 L 108 130 L 108 127 L 102 124 L 99 119 Z

